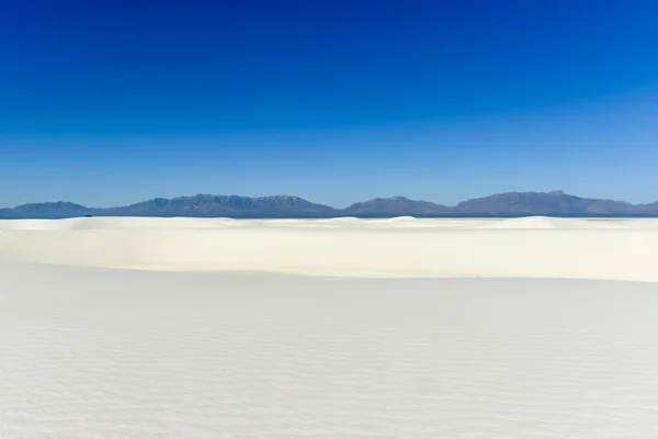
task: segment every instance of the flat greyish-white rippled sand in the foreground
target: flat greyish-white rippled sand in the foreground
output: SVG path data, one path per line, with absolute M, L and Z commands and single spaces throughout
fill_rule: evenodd
M 658 434 L 658 285 L 0 263 L 2 439 Z

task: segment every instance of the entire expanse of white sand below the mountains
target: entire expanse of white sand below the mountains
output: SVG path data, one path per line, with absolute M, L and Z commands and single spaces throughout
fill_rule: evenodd
M 655 438 L 657 282 L 253 271 L 656 281 L 656 225 L 0 222 L 0 438 Z

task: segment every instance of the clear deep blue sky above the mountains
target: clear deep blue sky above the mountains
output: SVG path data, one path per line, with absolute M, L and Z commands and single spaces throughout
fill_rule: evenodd
M 0 2 L 0 206 L 658 200 L 658 2 Z

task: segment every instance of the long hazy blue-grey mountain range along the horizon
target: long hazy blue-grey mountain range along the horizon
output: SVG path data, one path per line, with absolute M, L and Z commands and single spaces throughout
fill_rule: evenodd
M 336 209 L 298 196 L 240 196 L 197 194 L 174 199 L 156 198 L 120 207 L 94 209 L 70 202 L 23 204 L 0 209 L 2 219 L 67 218 L 94 216 L 188 216 L 242 218 L 394 217 L 394 216 L 658 216 L 658 202 L 631 204 L 552 192 L 504 192 L 466 200 L 456 206 L 404 196 L 373 199 Z

